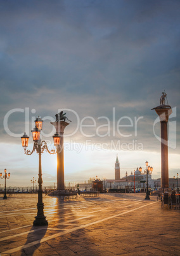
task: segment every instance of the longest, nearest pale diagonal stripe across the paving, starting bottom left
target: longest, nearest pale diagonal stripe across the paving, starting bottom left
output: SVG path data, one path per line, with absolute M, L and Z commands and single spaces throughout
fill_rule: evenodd
M 113 215 L 113 216 L 110 216 L 110 217 L 106 217 L 106 218 L 103 218 L 103 219 L 101 219 L 101 220 L 96 220 L 95 222 L 91 222 L 91 223 L 88 223 L 88 224 L 80 225 L 79 227 L 74 227 L 74 228 L 72 228 L 72 229 L 68 229 L 67 231 L 61 231 L 61 232 L 59 232 L 59 233 L 53 234 L 53 235 L 51 235 L 51 236 L 48 236 L 48 237 L 46 237 L 46 238 L 38 239 L 38 240 L 36 240 L 36 241 L 34 241 L 34 242 L 28 243 L 28 244 L 23 245 L 23 246 L 18 246 L 18 247 L 16 247 L 16 248 L 13 248 L 13 249 L 10 249 L 10 250 L 6 250 L 6 251 L 1 252 L 1 253 L 14 253 L 14 252 L 18 252 L 18 251 L 23 250 L 23 249 L 25 249 L 25 248 L 29 248 L 30 246 L 34 246 L 34 245 L 37 245 L 37 244 L 39 244 L 39 243 L 46 242 L 46 241 L 48 241 L 48 240 L 50 240 L 50 239 L 53 239 L 53 238 L 58 238 L 59 236 L 63 236 L 63 235 L 68 234 L 68 233 L 70 233 L 70 232 L 77 231 L 78 229 L 83 229 L 84 227 L 89 227 L 89 226 L 94 225 L 94 224 L 99 224 L 99 223 L 104 222 L 104 221 L 106 221 L 106 220 L 110 220 L 110 219 L 112 219 L 112 218 L 116 218 L 116 217 L 119 217 L 119 216 L 121 216 L 121 215 L 125 215 L 126 213 L 131 213 L 132 211 L 139 210 L 139 209 L 141 209 L 141 208 L 144 208 L 144 207 L 146 207 L 146 206 L 150 206 L 151 204 L 155 204 L 155 203 L 157 203 L 157 201 L 155 201 L 155 202 L 153 202 L 153 203 L 147 203 L 147 204 L 145 204 L 145 205 L 143 205 L 143 206 L 139 206 L 138 208 L 134 208 L 134 209 L 132 209 L 132 210 L 125 211 L 124 213 L 119 213 L 119 214 L 117 214 L 117 215 Z

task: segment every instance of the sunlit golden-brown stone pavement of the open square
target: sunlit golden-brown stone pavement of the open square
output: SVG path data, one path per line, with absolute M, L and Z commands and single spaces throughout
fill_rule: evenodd
M 180 210 L 157 196 L 43 197 L 48 227 L 34 227 L 37 194 L 0 196 L 0 255 L 180 255 Z

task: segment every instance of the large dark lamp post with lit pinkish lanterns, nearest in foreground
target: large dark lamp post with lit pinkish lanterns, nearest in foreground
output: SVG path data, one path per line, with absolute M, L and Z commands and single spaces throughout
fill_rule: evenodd
M 48 220 L 46 220 L 46 217 L 44 216 L 44 203 L 42 203 L 42 169 L 41 169 L 41 154 L 46 150 L 46 152 L 55 154 L 57 152 L 56 150 L 48 150 L 48 145 L 46 141 L 41 141 L 41 130 L 42 130 L 42 122 L 43 120 L 38 117 L 35 119 L 35 128 L 32 130 L 32 138 L 34 141 L 34 145 L 32 148 L 32 152 L 30 150 L 27 150 L 29 136 L 27 134 L 23 134 L 21 137 L 22 139 L 22 146 L 24 148 L 24 153 L 26 155 L 32 155 L 35 151 L 39 154 L 39 178 L 37 183 L 39 184 L 38 189 L 38 203 L 37 203 L 37 216 L 34 220 L 34 225 L 48 225 Z M 57 147 L 60 145 L 60 136 L 58 133 L 56 133 L 53 136 L 54 139 L 54 145 Z

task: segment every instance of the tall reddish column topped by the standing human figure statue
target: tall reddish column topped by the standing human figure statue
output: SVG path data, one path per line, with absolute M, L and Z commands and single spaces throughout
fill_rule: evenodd
M 160 105 L 151 110 L 155 110 L 160 118 L 160 137 L 161 137 L 161 188 L 169 188 L 169 166 L 168 166 L 168 135 L 167 123 L 172 113 L 171 106 L 167 103 L 167 94 L 162 92 Z

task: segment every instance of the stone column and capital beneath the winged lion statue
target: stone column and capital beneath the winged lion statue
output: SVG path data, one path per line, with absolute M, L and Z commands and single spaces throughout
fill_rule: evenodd
M 65 127 L 69 124 L 65 121 L 53 122 L 51 124 L 55 126 L 56 132 L 61 136 L 60 146 L 58 146 L 57 152 L 57 190 L 63 190 L 65 189 L 63 134 Z

